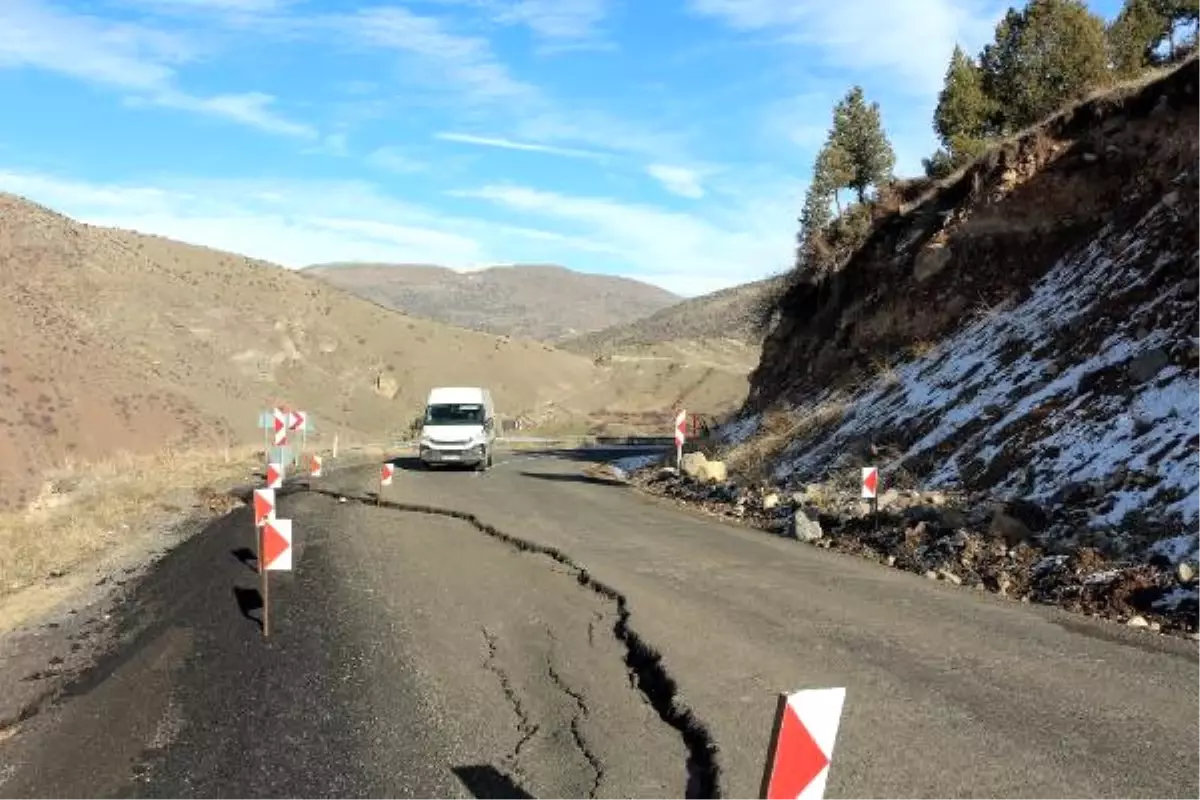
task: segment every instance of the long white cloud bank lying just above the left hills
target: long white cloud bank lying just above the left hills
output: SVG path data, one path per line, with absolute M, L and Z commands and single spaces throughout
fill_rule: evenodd
M 564 248 L 612 252 L 608 245 L 582 236 L 443 213 L 361 181 L 164 178 L 96 184 L 0 168 L 0 191 L 91 224 L 292 267 L 359 260 L 476 269 L 522 260 L 551 263 Z

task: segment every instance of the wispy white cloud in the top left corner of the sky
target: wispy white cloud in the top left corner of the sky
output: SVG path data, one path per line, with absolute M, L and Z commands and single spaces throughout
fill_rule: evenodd
M 194 55 L 185 37 L 145 25 L 72 14 L 38 0 L 0 6 L 0 67 L 46 70 L 110 86 L 134 106 L 178 108 L 283 136 L 316 136 L 311 126 L 272 110 L 271 95 L 182 90 L 176 65 Z

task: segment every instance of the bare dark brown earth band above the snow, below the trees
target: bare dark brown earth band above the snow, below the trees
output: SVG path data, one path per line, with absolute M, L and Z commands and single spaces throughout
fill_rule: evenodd
M 1060 113 L 883 216 L 845 269 L 782 296 L 751 407 L 854 385 L 1020 302 L 1060 258 L 1168 194 L 1200 156 L 1198 131 L 1193 59 Z

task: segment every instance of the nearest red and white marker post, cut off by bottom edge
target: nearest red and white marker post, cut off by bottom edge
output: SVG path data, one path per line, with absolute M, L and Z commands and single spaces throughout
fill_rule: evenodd
M 779 696 L 760 800 L 821 800 L 841 722 L 845 688 Z

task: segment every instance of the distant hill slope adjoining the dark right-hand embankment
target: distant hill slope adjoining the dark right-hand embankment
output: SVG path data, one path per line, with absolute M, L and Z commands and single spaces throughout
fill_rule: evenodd
M 760 308 L 782 284 L 784 278 L 774 277 L 690 297 L 630 323 L 563 338 L 558 345 L 592 356 L 664 342 L 727 339 L 757 348 Z

